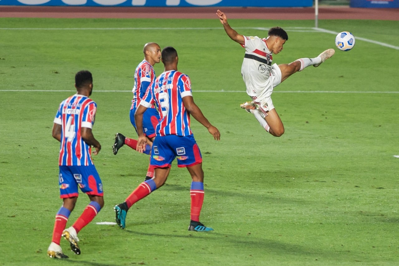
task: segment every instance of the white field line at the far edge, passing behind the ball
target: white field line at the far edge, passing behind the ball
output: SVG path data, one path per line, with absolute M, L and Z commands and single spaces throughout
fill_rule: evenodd
M 223 28 L 0 28 L 0 30 L 222 30 Z M 239 27 L 236 29 L 253 29 L 253 30 L 269 30 L 269 28 L 262 27 Z M 333 35 L 337 35 L 338 32 L 334 32 L 331 30 L 325 30 L 322 28 L 304 28 L 304 27 L 292 27 L 292 28 L 284 28 L 288 32 L 324 32 Z M 369 40 L 366 38 L 361 38 L 355 36 L 356 40 L 361 40 L 364 42 L 369 42 L 372 44 L 377 44 L 379 46 L 384 46 L 388 48 L 392 48 L 395 50 L 399 50 L 399 46 L 394 46 L 391 44 L 385 44 L 383 42 L 377 42 L 374 40 Z

